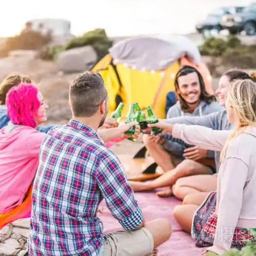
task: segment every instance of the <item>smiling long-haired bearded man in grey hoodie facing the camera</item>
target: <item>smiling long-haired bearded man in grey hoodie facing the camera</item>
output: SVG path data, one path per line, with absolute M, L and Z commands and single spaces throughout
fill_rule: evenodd
M 178 101 L 169 109 L 166 118 L 204 116 L 223 108 L 216 102 L 214 95 L 206 92 L 203 77 L 193 67 L 184 66 L 181 68 L 175 77 L 174 84 Z M 180 159 L 184 159 L 184 153 L 185 157 L 194 160 L 203 157 L 214 157 L 212 151 L 198 147 L 186 148 L 185 145 L 182 145 L 182 142 L 177 143 L 161 137 L 151 137 L 145 134 L 143 135 L 143 141 L 150 156 L 155 159 L 164 172 L 174 169 L 174 162 L 177 163 L 180 162 Z M 175 161 L 177 158 L 175 156 L 178 156 L 178 161 Z

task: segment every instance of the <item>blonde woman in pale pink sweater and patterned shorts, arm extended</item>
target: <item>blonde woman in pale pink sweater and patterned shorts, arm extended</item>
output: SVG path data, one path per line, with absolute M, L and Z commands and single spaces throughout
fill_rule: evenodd
M 175 219 L 183 230 L 191 231 L 197 246 L 211 246 L 204 255 L 221 255 L 230 247 L 241 249 L 245 239 L 253 240 L 249 229 L 256 230 L 256 83 L 250 79 L 233 82 L 226 109 L 235 126 L 231 133 L 196 125 L 155 125 L 187 143 L 194 134 L 196 145 L 205 148 L 207 143 L 198 134 L 208 134 L 216 148 L 228 136 L 221 153 L 217 193 L 210 193 L 199 207 L 187 204 L 174 210 Z

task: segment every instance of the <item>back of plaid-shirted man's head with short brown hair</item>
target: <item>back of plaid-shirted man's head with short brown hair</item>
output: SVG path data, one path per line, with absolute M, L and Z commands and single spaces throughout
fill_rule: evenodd
M 78 75 L 69 87 L 71 110 L 76 117 L 90 117 L 107 100 L 107 89 L 100 74 L 85 72 Z

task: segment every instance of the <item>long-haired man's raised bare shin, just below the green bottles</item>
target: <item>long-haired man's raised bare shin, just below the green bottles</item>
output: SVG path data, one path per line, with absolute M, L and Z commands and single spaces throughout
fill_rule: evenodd
M 170 154 L 163 149 L 161 145 L 157 145 L 150 140 L 147 134 L 143 134 L 143 142 L 149 151 L 151 157 L 153 157 L 156 163 L 163 169 L 164 172 L 174 169 L 172 158 Z

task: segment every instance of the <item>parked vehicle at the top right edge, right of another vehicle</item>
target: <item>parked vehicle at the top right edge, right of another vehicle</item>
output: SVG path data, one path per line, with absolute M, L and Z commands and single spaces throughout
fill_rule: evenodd
M 230 34 L 236 34 L 244 30 L 246 35 L 255 35 L 256 3 L 245 7 L 240 13 L 223 15 L 221 27 L 228 29 Z

